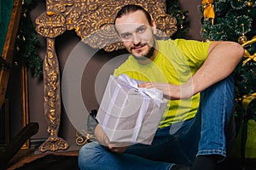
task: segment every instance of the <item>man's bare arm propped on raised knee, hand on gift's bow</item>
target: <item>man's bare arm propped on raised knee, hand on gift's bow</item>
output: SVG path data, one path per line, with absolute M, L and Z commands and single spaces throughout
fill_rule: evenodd
M 236 42 L 212 42 L 201 68 L 181 86 L 170 83 L 148 82 L 141 88 L 159 88 L 168 99 L 189 99 L 212 84 L 228 77 L 239 63 L 244 49 Z

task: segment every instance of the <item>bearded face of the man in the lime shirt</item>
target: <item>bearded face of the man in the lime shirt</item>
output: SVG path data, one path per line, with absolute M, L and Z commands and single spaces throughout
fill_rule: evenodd
M 155 39 L 152 26 L 143 11 L 137 10 L 116 19 L 116 29 L 125 48 L 139 60 L 151 59 L 155 56 Z

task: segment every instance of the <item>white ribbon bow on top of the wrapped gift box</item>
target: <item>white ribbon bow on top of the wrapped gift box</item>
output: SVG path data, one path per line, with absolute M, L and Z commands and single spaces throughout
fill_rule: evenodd
M 137 82 L 134 79 L 131 79 L 127 75 L 119 75 L 119 80 L 127 83 L 131 88 L 137 89 L 137 92 L 143 96 L 148 96 L 151 99 L 154 99 L 156 105 L 160 106 L 162 99 L 164 98 L 163 92 L 157 88 L 138 88 Z

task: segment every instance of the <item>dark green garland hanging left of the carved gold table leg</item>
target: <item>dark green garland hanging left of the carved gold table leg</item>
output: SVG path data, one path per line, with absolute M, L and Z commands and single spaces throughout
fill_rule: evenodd
M 19 30 L 16 38 L 15 56 L 17 57 L 15 61 L 25 63 L 34 77 L 42 77 L 43 59 L 38 54 L 41 42 L 30 17 L 30 12 L 36 5 L 35 0 L 24 0 L 22 2 Z

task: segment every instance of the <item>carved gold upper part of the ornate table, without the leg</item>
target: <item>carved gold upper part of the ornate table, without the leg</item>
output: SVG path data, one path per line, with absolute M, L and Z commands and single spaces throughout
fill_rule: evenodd
M 177 31 L 177 20 L 166 14 L 166 0 L 48 0 L 47 11 L 36 20 L 43 37 L 57 37 L 74 30 L 92 48 L 113 51 L 124 48 L 114 29 L 114 16 L 126 4 L 143 6 L 152 15 L 156 37 L 171 37 Z

